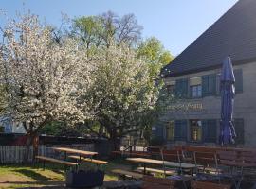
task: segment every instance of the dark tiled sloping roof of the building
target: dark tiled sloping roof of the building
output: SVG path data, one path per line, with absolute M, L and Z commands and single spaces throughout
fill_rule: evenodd
M 239 0 L 218 21 L 162 69 L 174 77 L 221 66 L 256 60 L 256 0 Z

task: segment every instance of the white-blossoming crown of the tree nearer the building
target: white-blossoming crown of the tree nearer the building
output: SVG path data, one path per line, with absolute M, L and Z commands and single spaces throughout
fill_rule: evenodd
M 86 95 L 93 99 L 91 112 L 103 136 L 114 140 L 141 129 L 148 112 L 155 109 L 158 94 L 147 61 L 138 60 L 136 51 L 125 43 L 99 48 L 95 57 L 91 76 L 95 84 Z

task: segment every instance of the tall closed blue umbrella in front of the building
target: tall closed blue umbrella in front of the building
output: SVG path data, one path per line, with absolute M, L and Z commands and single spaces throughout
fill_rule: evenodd
M 220 143 L 222 145 L 233 144 L 236 137 L 232 124 L 232 114 L 235 95 L 235 77 L 230 57 L 223 62 L 221 77 L 221 133 Z

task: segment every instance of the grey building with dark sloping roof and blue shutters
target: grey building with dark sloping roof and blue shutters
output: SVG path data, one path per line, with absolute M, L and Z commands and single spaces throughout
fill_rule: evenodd
M 175 102 L 153 128 L 166 143 L 218 145 L 219 76 L 230 56 L 235 74 L 236 146 L 256 146 L 256 1 L 240 0 L 162 70 Z M 185 34 L 184 34 L 185 35 Z

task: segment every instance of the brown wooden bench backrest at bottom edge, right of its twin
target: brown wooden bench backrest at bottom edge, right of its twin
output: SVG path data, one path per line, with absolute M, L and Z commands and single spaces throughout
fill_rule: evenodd
M 192 181 L 191 187 L 192 189 L 230 189 L 231 185 L 213 183 L 209 181 Z

